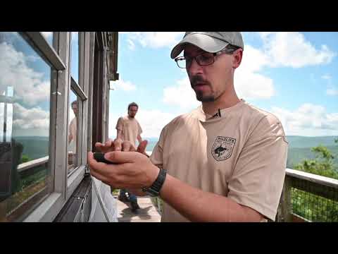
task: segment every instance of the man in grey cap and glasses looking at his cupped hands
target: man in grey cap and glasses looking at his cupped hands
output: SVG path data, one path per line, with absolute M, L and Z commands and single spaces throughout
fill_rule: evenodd
M 105 158 L 117 164 L 98 163 L 89 152 L 92 175 L 137 195 L 159 194 L 163 222 L 274 220 L 287 142 L 273 114 L 237 97 L 243 49 L 240 32 L 186 32 L 171 57 L 187 69 L 201 106 L 163 128 L 151 159 L 142 155 L 146 142 L 137 152 L 127 142 L 105 144 L 113 151 Z

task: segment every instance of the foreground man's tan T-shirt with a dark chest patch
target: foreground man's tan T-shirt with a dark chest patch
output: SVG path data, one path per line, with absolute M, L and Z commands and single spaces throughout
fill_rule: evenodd
M 220 114 L 208 116 L 199 107 L 173 119 L 163 128 L 151 161 L 190 186 L 275 220 L 287 163 L 282 124 L 244 100 Z M 161 220 L 188 221 L 166 203 Z

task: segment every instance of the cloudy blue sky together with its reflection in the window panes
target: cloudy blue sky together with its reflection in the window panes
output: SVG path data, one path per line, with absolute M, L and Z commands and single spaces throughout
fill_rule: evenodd
M 77 36 L 71 73 L 78 79 Z M 42 32 L 51 44 L 52 33 Z M 184 32 L 120 32 L 118 73 L 111 82 L 109 136 L 118 117 L 137 102 L 143 138 L 199 106 L 187 73 L 170 59 Z M 338 32 L 243 32 L 244 56 L 234 74 L 240 98 L 275 114 L 287 135 L 338 135 Z M 15 135 L 49 135 L 51 68 L 16 32 L 0 32 L 0 95 L 11 96 Z M 73 92 L 70 103 L 75 99 Z M 73 119 L 70 110 L 69 121 Z M 0 119 L 4 104 L 0 103 Z M 2 125 L 1 125 L 2 124 Z M 0 121 L 0 130 L 3 130 Z M 1 135 L 4 133 L 0 133 Z M 9 132 L 7 133 L 9 135 Z

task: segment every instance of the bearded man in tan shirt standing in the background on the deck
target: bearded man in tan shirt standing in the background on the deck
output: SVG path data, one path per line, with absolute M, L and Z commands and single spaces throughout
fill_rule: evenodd
M 135 119 L 135 116 L 137 114 L 137 110 L 139 109 L 139 106 L 132 102 L 128 105 L 128 114 L 127 116 L 120 117 L 118 119 L 118 123 L 116 124 L 116 130 L 117 130 L 117 139 L 120 140 L 127 140 L 130 141 L 134 147 L 136 146 L 136 140 L 139 141 L 139 143 L 142 142 L 141 133 L 142 128 L 139 125 L 139 122 Z M 120 190 L 119 200 L 121 201 L 127 201 L 126 193 L 129 194 L 129 200 L 130 204 L 132 205 L 132 211 L 136 212 L 137 209 L 139 209 L 139 205 L 137 204 L 137 197 L 136 195 L 130 193 L 126 189 L 122 188 Z

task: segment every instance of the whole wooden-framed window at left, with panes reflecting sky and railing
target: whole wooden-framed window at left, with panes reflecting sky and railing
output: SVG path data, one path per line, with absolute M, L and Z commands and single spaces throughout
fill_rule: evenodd
M 94 76 L 109 74 L 106 40 L 94 63 L 96 34 L 106 38 L 106 32 L 0 32 L 0 222 L 51 222 L 82 181 L 93 91 L 101 101 L 107 87 L 101 81 L 94 87 Z

